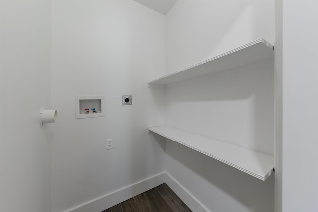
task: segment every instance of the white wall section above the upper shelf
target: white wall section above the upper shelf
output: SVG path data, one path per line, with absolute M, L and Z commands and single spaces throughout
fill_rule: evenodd
M 274 43 L 273 0 L 179 0 L 166 15 L 166 73 L 258 38 Z

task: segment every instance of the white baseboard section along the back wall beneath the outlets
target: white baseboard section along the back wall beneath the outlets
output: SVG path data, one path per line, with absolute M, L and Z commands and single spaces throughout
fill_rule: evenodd
M 67 212 L 101 212 L 165 182 L 165 172 L 84 203 Z

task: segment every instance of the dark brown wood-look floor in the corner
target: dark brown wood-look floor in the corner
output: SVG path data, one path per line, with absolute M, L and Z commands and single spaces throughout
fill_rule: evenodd
M 102 212 L 192 212 L 183 201 L 163 183 L 151 190 L 117 204 Z

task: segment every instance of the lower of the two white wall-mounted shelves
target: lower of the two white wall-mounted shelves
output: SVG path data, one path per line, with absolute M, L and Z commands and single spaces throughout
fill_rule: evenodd
M 149 131 L 224 162 L 263 181 L 274 171 L 274 156 L 176 128 L 149 127 Z

